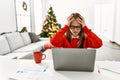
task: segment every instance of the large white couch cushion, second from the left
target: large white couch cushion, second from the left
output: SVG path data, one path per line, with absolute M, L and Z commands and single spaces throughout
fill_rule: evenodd
M 6 34 L 6 38 L 8 40 L 8 43 L 10 45 L 10 49 L 12 51 L 17 49 L 17 48 L 20 48 L 20 47 L 24 46 L 23 39 L 22 39 L 19 32 Z

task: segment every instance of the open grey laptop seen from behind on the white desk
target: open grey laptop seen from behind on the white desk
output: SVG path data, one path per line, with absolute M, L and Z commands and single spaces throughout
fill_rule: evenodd
M 95 49 L 53 48 L 53 66 L 61 71 L 94 71 Z

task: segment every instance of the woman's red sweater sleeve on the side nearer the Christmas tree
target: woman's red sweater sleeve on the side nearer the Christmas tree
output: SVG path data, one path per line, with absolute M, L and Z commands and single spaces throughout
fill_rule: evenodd
M 63 39 L 64 34 L 68 30 L 68 26 L 65 25 L 63 28 L 61 28 L 51 39 L 50 42 L 52 45 L 56 47 L 63 47 Z

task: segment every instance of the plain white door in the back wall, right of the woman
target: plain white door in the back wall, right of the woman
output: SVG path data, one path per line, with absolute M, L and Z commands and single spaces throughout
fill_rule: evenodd
M 94 31 L 103 41 L 113 40 L 114 33 L 114 1 L 109 4 L 96 4 Z

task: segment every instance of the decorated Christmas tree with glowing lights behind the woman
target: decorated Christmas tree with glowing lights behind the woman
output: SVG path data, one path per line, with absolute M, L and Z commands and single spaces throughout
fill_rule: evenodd
M 45 21 L 43 23 L 43 28 L 42 32 L 40 33 L 40 37 L 51 38 L 60 28 L 61 25 L 57 23 L 52 6 L 50 6 L 48 14 L 46 15 Z

